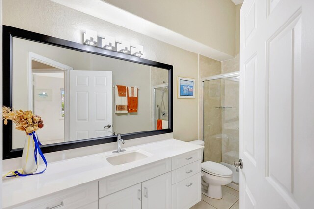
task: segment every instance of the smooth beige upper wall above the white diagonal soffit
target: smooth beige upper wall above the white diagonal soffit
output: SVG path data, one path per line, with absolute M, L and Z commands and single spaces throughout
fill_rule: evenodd
M 235 55 L 231 0 L 105 0 L 123 10 L 229 55 Z

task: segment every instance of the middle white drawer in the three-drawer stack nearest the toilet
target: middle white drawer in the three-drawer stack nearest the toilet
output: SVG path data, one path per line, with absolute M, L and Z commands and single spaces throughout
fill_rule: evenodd
M 181 168 L 172 171 L 172 184 L 178 183 L 194 174 L 201 172 L 201 160 L 192 162 Z

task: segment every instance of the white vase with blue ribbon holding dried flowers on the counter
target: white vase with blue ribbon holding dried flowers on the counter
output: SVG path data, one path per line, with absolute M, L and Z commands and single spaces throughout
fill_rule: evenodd
M 22 154 L 22 170 L 24 174 L 34 173 L 39 165 L 39 154 L 36 152 L 37 163 L 35 161 L 35 142 L 32 135 L 26 135 Z

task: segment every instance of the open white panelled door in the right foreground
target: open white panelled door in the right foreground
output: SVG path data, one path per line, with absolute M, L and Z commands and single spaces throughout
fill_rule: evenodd
M 240 23 L 240 208 L 314 208 L 314 1 L 244 0 Z

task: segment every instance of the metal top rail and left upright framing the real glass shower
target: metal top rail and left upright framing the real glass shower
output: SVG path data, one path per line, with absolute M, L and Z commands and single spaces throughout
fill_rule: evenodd
M 214 76 L 208 76 L 208 77 L 204 77 L 201 78 L 202 81 L 202 87 L 200 87 L 200 101 L 201 101 L 201 111 L 200 111 L 200 127 L 202 129 L 202 131 L 200 131 L 200 136 L 199 139 L 202 139 L 204 141 L 204 82 L 205 81 L 210 81 L 210 80 L 219 80 L 219 79 L 223 79 L 223 78 L 232 78 L 232 77 L 236 77 L 236 76 L 240 76 L 240 71 L 235 71 L 235 72 L 231 72 L 231 73 L 224 73 L 224 74 L 218 74 L 218 75 L 214 75 Z

